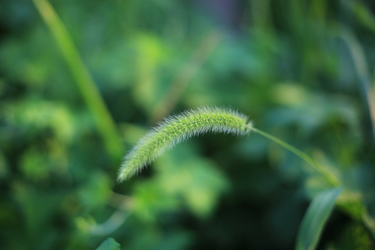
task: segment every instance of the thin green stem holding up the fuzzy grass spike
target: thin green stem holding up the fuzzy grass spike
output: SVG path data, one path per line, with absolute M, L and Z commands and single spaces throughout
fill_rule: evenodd
M 268 138 L 269 140 L 272 140 L 272 142 L 276 142 L 277 144 L 279 144 L 284 149 L 287 149 L 290 152 L 294 153 L 296 156 L 298 156 L 303 161 L 308 163 L 308 165 L 314 167 L 314 169 L 317 170 L 317 172 L 319 172 L 320 174 L 322 174 L 324 176 L 324 178 L 326 178 L 327 181 L 329 181 L 329 183 L 331 183 L 334 187 L 340 186 L 340 180 L 334 174 L 329 172 L 328 169 L 326 169 L 325 167 L 323 167 L 322 165 L 317 163 L 315 160 L 313 160 L 313 158 L 308 156 L 308 154 L 303 153 L 301 150 L 296 149 L 295 147 L 288 144 L 287 142 L 284 142 L 283 140 L 280 140 L 280 139 L 274 137 L 274 135 L 270 135 L 269 133 L 266 133 L 265 131 L 261 131 L 258 128 L 251 127 L 251 130 L 260 134 L 260 135 L 263 135 L 265 138 Z

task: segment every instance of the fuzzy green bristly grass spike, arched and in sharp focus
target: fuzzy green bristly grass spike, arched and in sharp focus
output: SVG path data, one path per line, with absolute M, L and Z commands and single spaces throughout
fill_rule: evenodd
M 124 157 L 118 181 L 130 178 L 163 151 L 193 136 L 208 132 L 246 135 L 251 128 L 248 117 L 228 108 L 197 108 L 167 117 Z

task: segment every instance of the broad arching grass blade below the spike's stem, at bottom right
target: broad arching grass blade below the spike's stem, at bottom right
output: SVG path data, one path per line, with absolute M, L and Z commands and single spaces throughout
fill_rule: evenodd
M 303 217 L 297 236 L 296 250 L 313 250 L 322 234 L 324 224 L 335 206 L 341 189 L 332 189 L 318 194 Z

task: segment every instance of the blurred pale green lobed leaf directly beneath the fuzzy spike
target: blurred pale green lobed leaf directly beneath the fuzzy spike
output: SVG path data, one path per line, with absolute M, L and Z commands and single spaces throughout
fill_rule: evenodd
M 192 145 L 184 143 L 158 159 L 158 185 L 168 195 L 182 197 L 200 217 L 210 215 L 220 194 L 229 188 L 228 180 L 215 163 L 195 155 Z

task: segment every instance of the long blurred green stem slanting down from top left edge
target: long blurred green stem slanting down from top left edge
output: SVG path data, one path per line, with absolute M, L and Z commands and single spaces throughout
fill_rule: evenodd
M 120 140 L 121 137 L 117 132 L 115 122 L 113 122 L 99 90 L 92 80 L 92 76 L 74 46 L 72 38 L 49 1 L 33 0 L 33 3 L 55 38 L 60 52 L 63 54 L 67 66 L 72 72 L 76 85 L 94 116 L 108 153 L 110 153 L 113 160 L 118 160 L 121 158 L 122 153 L 124 153 L 124 145 Z

